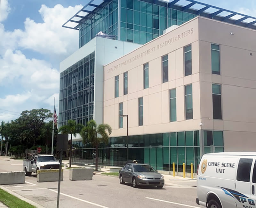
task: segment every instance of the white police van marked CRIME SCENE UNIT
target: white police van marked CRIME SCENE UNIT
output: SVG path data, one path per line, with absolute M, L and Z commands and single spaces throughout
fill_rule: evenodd
M 256 208 L 256 152 L 204 154 L 196 203 L 209 208 Z

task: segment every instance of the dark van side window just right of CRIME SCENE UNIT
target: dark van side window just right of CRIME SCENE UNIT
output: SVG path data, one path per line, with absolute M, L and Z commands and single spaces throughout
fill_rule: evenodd
M 250 158 L 241 158 L 239 160 L 237 168 L 237 181 L 250 182 L 250 174 L 252 168 L 252 159 Z

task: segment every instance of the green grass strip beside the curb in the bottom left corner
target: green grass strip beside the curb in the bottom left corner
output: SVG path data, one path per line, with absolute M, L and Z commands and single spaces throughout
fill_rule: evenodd
M 18 197 L 9 194 L 3 189 L 0 189 L 0 201 L 9 208 L 36 208 L 35 206 L 28 204 Z

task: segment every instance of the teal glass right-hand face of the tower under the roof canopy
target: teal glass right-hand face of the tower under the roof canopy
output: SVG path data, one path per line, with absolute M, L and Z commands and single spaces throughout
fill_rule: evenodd
M 157 4 L 138 0 L 121 0 L 120 39 L 145 44 L 162 35 L 167 27 L 181 25 L 194 17 L 196 17 L 194 14 Z

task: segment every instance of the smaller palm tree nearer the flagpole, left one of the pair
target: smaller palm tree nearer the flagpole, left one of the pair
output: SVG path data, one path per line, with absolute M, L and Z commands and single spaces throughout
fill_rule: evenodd
M 68 120 L 67 125 L 63 125 L 59 128 L 59 132 L 71 134 L 70 144 L 69 144 L 69 168 L 71 168 L 71 151 L 72 151 L 72 134 L 76 137 L 76 134 L 81 131 L 84 127 L 83 124 L 76 124 L 74 120 Z

